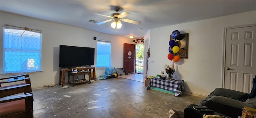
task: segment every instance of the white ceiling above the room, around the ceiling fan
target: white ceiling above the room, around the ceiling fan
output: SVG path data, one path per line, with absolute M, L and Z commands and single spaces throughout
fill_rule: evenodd
M 116 6 L 121 8 L 118 13 L 131 13 L 126 19 L 141 24 L 122 22 L 122 28 L 116 33 L 110 27 L 111 22 L 102 25 L 88 22 L 108 20 L 93 13 L 111 16 Z M 102 33 L 141 38 L 153 28 L 253 11 L 256 0 L 0 0 L 0 10 Z M 139 31 L 140 28 L 144 30 Z

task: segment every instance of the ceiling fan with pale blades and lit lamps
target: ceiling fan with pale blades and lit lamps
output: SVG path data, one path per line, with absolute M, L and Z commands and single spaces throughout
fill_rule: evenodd
M 116 10 L 116 13 L 113 13 L 111 16 L 107 16 L 107 15 L 103 15 L 103 14 L 98 14 L 98 13 L 94 13 L 96 15 L 100 15 L 100 16 L 105 16 L 105 17 L 108 17 L 108 18 L 112 18 L 112 19 L 109 19 L 109 20 L 105 20 L 103 22 L 98 22 L 96 23 L 97 25 L 101 25 L 101 24 L 104 24 L 106 22 L 110 22 L 112 20 L 115 20 L 112 24 L 111 24 L 111 27 L 112 28 L 115 28 L 115 29 L 119 29 L 122 27 L 122 24 L 119 20 L 122 20 L 123 22 L 128 22 L 128 23 L 131 23 L 131 24 L 140 24 L 139 21 L 136 21 L 136 20 L 130 20 L 130 19 L 125 19 L 124 17 L 130 15 L 129 12 L 122 12 L 121 14 L 117 13 L 120 8 L 116 7 L 115 8 Z

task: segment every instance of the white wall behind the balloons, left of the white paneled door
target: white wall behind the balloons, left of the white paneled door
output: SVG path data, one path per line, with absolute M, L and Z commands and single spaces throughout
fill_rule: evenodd
M 224 28 L 255 23 L 256 11 L 252 11 L 151 29 L 149 76 L 160 74 L 164 64 L 172 64 L 167 58 L 168 42 L 172 31 L 179 30 L 189 33 L 189 46 L 188 59 L 175 63 L 178 78 L 185 81 L 186 91 L 209 94 L 222 87 Z

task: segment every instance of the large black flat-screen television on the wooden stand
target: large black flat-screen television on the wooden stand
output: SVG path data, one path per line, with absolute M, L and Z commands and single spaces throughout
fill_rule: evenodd
M 94 48 L 60 45 L 59 67 L 70 68 L 94 65 Z

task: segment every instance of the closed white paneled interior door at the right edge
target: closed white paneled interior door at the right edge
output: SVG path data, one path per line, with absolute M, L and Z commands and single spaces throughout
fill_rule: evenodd
M 224 88 L 250 93 L 256 75 L 256 26 L 226 30 Z

